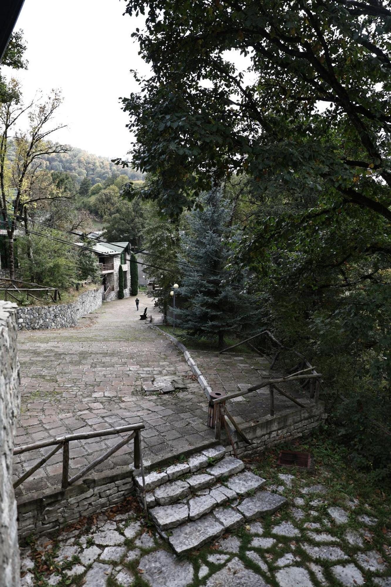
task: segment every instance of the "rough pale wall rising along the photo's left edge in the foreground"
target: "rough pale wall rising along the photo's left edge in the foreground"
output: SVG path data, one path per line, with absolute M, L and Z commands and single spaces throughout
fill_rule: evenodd
M 0 301 L 0 587 L 19 587 L 12 453 L 19 411 L 16 304 Z

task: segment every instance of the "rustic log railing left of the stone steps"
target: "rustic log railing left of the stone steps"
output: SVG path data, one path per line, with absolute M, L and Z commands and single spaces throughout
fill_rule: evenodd
M 145 482 L 144 482 L 144 465 L 143 465 L 143 455 L 141 451 L 141 430 L 145 428 L 144 424 L 129 424 L 129 426 L 120 426 L 119 428 L 108 428 L 107 430 L 98 430 L 93 432 L 83 432 L 80 434 L 68 434 L 67 436 L 62 436 L 60 438 L 53 438 L 52 440 L 42 440 L 41 442 L 36 442 L 33 444 L 26 444 L 25 446 L 16 447 L 14 450 L 14 456 L 22 453 L 27 453 L 31 450 L 36 450 L 38 448 L 45 448 L 48 446 L 54 446 L 54 448 L 45 455 L 45 457 L 41 458 L 38 463 L 33 465 L 28 471 L 23 473 L 21 477 L 14 483 L 14 489 L 19 487 L 26 481 L 36 470 L 42 467 L 49 460 L 54 454 L 56 454 L 62 448 L 62 481 L 61 481 L 61 488 L 65 490 L 69 485 L 75 483 L 80 478 L 84 477 L 90 470 L 95 468 L 100 463 L 103 463 L 107 458 L 111 457 L 112 454 L 116 453 L 117 450 L 122 448 L 125 444 L 129 443 L 134 438 L 134 453 L 133 453 L 133 460 L 134 460 L 134 468 L 141 469 L 141 475 L 143 478 L 143 496 L 145 501 Z M 100 457 L 97 457 L 95 460 L 92 461 L 89 465 L 83 468 L 79 473 L 73 475 L 73 477 L 69 478 L 69 443 L 73 440 L 86 440 L 86 438 L 96 438 L 100 436 L 112 436 L 113 434 L 121 434 L 123 432 L 132 431 L 129 436 L 122 438 L 119 443 L 115 446 L 110 448 L 105 454 Z

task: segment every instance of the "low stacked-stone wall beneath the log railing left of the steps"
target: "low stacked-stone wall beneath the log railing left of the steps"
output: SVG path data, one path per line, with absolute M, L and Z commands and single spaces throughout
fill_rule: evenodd
M 132 475 L 132 468 L 121 467 L 110 473 L 93 473 L 93 477 L 83 478 L 66 490 L 18 498 L 19 539 L 55 532 L 82 516 L 119 504 L 133 493 Z

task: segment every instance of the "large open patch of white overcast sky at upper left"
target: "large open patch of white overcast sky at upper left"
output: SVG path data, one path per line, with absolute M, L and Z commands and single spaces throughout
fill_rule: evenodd
M 148 72 L 130 38 L 143 21 L 123 16 L 125 7 L 123 0 L 25 0 L 15 26 L 27 42 L 28 70 L 12 71 L 25 101 L 38 89 L 62 89 L 58 120 L 68 128 L 56 140 L 111 158 L 130 148 L 118 100 L 137 89 L 129 70 Z

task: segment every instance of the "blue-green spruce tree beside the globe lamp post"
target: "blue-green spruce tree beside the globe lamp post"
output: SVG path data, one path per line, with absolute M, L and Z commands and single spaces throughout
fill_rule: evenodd
M 225 335 L 252 324 L 256 310 L 252 296 L 241 292 L 242 276 L 234 277 L 226 268 L 230 205 L 218 190 L 203 200 L 203 209 L 191 212 L 191 231 L 183 237 L 186 265 L 179 293 L 184 307 L 177 309 L 176 318 L 190 335 L 217 338 L 221 350 Z

